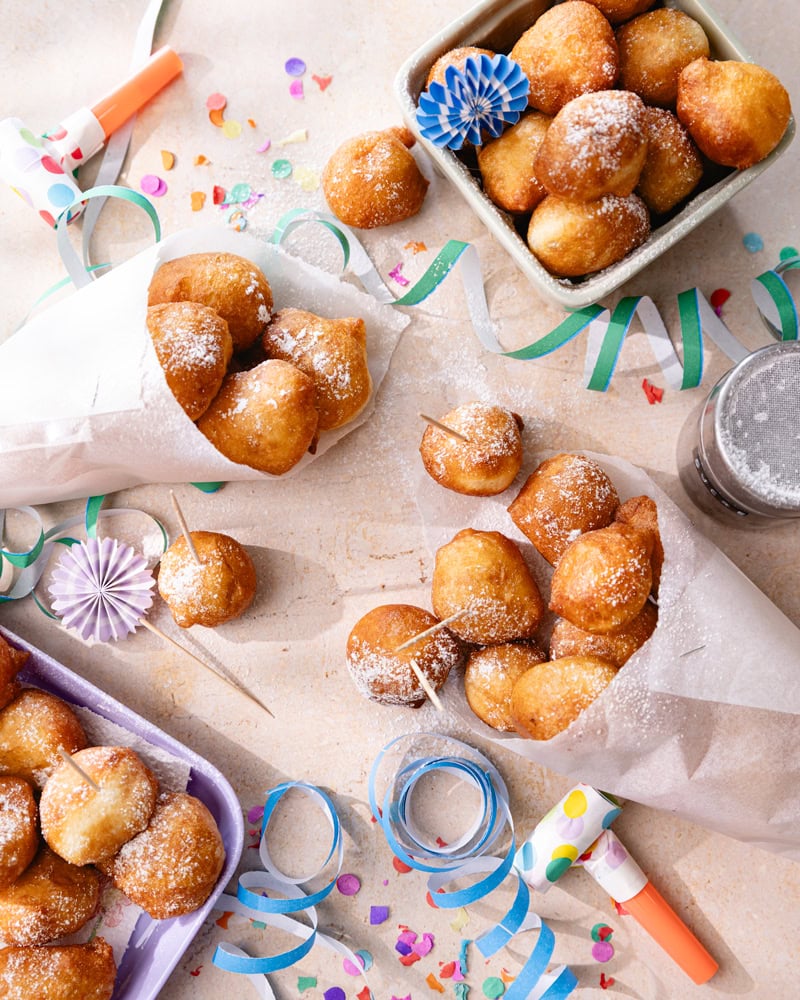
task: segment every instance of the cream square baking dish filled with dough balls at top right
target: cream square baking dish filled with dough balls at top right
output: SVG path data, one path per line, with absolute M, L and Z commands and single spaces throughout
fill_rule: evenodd
M 507 54 L 520 35 L 552 6 L 552 0 L 484 0 L 427 41 L 403 63 L 395 78 L 395 94 L 403 118 L 420 146 L 426 150 L 439 172 L 461 192 L 531 284 L 551 301 L 567 309 L 579 309 L 598 302 L 624 285 L 755 180 L 789 146 L 795 125 L 794 119 L 791 119 L 780 143 L 766 159 L 747 170 L 729 171 L 717 177 L 710 186 L 701 188 L 678 214 L 653 229 L 647 242 L 618 264 L 582 279 L 554 277 L 528 249 L 524 230 L 520 232 L 512 216 L 493 205 L 483 194 L 477 172 L 470 170 L 465 158 L 424 139 L 416 120 L 417 100 L 425 89 L 428 70 L 440 55 L 461 45 L 478 45 Z M 672 0 L 665 6 L 685 11 L 702 25 L 711 45 L 712 58 L 753 61 L 703 0 Z M 528 217 L 523 218 L 527 220 Z

